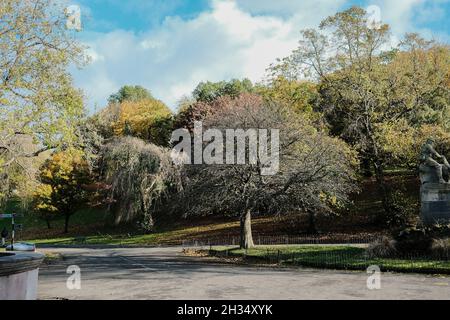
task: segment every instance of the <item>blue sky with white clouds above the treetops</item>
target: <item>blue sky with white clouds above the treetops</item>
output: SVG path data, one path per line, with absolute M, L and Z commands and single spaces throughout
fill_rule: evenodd
M 450 41 L 450 0 L 77 0 L 89 66 L 74 70 L 91 112 L 139 84 L 172 109 L 201 81 L 249 78 L 296 47 L 299 30 L 352 5 L 378 6 L 394 41 Z

